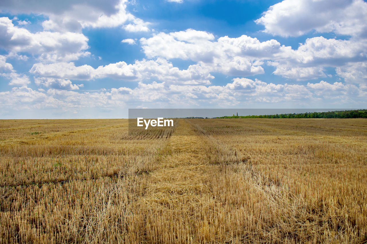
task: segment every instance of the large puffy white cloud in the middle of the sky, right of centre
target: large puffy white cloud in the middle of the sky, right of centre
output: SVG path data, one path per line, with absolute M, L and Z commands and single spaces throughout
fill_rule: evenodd
M 141 38 L 140 42 L 148 58 L 192 60 L 208 72 L 243 76 L 264 73 L 259 60 L 272 58 L 286 48 L 276 40 L 260 42 L 246 35 L 214 39 L 211 33 L 188 29 L 159 33 L 151 38 Z

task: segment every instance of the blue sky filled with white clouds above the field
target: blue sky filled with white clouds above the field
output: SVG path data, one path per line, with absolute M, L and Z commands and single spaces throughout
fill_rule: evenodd
M 363 0 L 0 2 L 0 118 L 366 108 Z

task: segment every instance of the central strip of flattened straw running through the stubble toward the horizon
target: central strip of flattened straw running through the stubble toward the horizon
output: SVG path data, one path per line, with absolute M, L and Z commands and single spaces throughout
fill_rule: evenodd
M 204 215 L 215 211 L 214 200 L 208 202 L 208 169 L 211 166 L 203 150 L 203 141 L 181 120 L 171 136 L 170 148 L 172 154 L 150 173 L 144 196 L 134 203 L 145 210 L 146 219 L 146 226 L 136 227 L 146 229 L 146 241 L 155 243 L 211 239 L 203 231 L 204 222 L 207 222 Z

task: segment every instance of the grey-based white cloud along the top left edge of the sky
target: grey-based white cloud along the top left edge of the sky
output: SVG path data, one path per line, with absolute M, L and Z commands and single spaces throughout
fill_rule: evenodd
M 44 30 L 57 32 L 80 32 L 86 27 L 117 27 L 132 23 L 137 29 L 149 29 L 150 24 L 126 11 L 127 0 L 109 1 L 3 1 L 3 11 L 12 13 L 35 13 L 48 16 L 43 22 Z

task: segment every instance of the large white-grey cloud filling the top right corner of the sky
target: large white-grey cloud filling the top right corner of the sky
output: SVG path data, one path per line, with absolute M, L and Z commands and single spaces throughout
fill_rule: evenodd
M 265 32 L 301 36 L 311 30 L 366 36 L 367 3 L 363 0 L 284 0 L 272 5 L 255 21 Z

